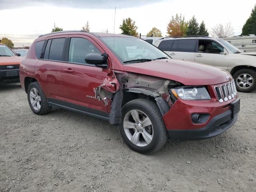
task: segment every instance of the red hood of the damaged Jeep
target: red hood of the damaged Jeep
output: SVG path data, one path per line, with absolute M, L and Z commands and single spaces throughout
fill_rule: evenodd
M 127 64 L 124 65 L 124 70 L 174 80 L 192 86 L 221 84 L 232 79 L 232 76 L 225 70 L 209 65 L 172 59 Z

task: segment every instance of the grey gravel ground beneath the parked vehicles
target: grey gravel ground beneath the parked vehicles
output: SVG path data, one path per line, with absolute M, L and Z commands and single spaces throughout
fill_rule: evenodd
M 0 86 L 0 192 L 256 191 L 256 92 L 238 121 L 201 141 L 169 140 L 145 156 L 117 126 L 54 108 L 35 115 L 19 84 Z

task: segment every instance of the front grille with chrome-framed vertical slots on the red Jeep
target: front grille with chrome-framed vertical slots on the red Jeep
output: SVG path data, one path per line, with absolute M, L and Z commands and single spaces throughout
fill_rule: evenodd
M 234 80 L 232 80 L 226 84 L 216 86 L 215 92 L 217 94 L 217 98 L 220 103 L 231 100 L 237 94 L 236 85 L 235 85 Z

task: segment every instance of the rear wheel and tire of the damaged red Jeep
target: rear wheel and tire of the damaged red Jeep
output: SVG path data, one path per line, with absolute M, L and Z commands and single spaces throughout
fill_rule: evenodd
M 28 103 L 31 110 L 37 115 L 44 115 L 52 109 L 52 106 L 47 104 L 46 96 L 38 82 L 33 82 L 28 86 Z

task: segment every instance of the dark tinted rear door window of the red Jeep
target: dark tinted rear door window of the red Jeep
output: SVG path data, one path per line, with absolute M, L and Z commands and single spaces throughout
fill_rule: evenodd
M 65 38 L 52 39 L 49 52 L 49 60 L 61 61 Z M 48 44 L 46 45 L 46 47 Z

